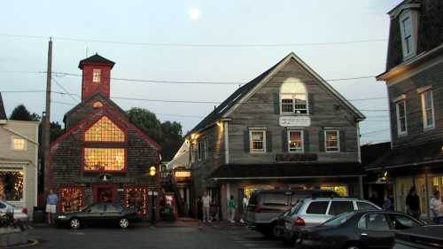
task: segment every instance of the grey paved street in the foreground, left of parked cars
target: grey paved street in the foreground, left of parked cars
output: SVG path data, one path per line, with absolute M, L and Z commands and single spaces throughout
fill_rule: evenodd
M 33 248 L 145 248 L 145 249 L 279 249 L 288 248 L 279 240 L 262 237 L 245 227 L 211 223 L 198 229 L 195 223 L 183 226 L 138 226 L 129 230 L 86 228 L 81 230 L 36 227 L 31 236 L 39 240 Z

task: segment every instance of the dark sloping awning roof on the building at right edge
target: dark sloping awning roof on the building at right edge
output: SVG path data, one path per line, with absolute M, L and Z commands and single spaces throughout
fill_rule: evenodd
M 384 167 L 417 165 L 436 160 L 443 160 L 443 141 L 435 141 L 410 147 L 401 147 L 386 152 L 379 159 L 366 167 L 367 170 Z

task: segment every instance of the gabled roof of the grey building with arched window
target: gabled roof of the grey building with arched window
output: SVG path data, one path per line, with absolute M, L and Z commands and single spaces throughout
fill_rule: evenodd
M 262 84 L 268 82 L 268 80 L 281 68 L 286 66 L 286 64 L 289 63 L 291 59 L 295 59 L 299 63 L 299 65 L 303 66 L 309 74 L 315 77 L 318 82 L 323 84 L 326 89 L 330 90 L 330 92 L 334 96 L 338 97 L 338 99 L 344 105 L 346 105 L 356 115 L 357 118 L 361 120 L 365 119 L 365 116 L 360 113 L 360 111 L 358 111 L 357 108 L 354 107 L 354 105 L 349 103 L 345 97 L 338 93 L 336 89 L 333 89 L 330 84 L 324 81 L 320 75 L 316 74 L 314 70 L 312 70 L 303 60 L 301 60 L 301 58 L 297 57 L 295 53 L 291 52 L 282 60 L 280 60 L 276 65 L 270 67 L 264 73 L 254 78 L 251 82 L 247 82 L 245 85 L 234 91 L 234 93 L 232 93 L 219 106 L 217 106 L 213 112 L 209 113 L 206 118 L 200 121 L 195 128 L 192 128 L 186 136 L 200 129 L 206 128 L 207 126 L 213 124 L 215 121 L 218 121 L 222 118 L 228 118 L 229 114 L 232 113 L 232 111 L 236 109 L 237 106 L 241 105 L 241 103 L 244 103 L 247 98 L 249 98 L 253 94 L 253 92 L 260 89 L 260 86 Z

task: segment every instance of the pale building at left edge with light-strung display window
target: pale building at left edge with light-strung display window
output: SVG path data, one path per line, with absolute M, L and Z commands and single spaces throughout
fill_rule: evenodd
M 0 94 L 0 198 L 26 207 L 31 220 L 37 206 L 38 125 L 7 120 Z

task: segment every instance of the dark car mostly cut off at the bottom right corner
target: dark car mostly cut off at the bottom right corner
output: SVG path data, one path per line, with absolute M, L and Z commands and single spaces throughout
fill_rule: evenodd
M 443 225 L 415 227 L 395 234 L 392 249 L 443 248 Z

